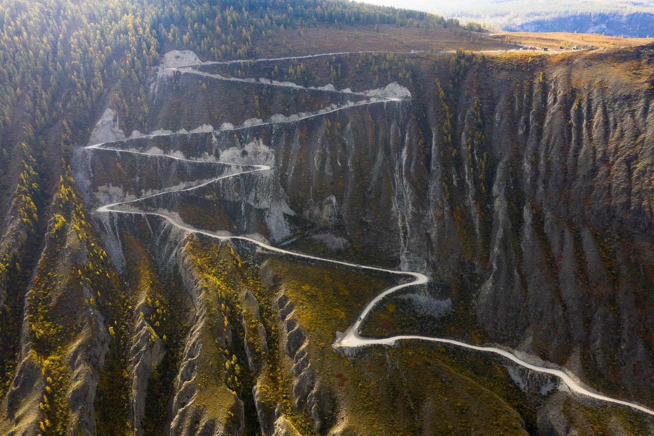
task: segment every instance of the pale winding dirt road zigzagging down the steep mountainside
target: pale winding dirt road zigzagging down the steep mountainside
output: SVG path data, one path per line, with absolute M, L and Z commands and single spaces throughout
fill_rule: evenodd
M 313 56 L 307 56 L 307 57 L 316 57 L 316 56 L 321 56 L 321 55 L 313 55 Z M 192 72 L 192 71 L 184 71 L 184 72 Z M 198 73 L 198 72 L 196 72 Z M 224 77 L 216 77 L 216 79 L 223 79 L 223 80 L 228 80 L 227 78 Z M 332 92 L 343 92 L 343 91 L 337 91 L 334 90 Z M 363 104 L 373 104 L 373 103 L 380 103 L 380 102 L 386 102 L 386 101 L 396 101 L 400 99 L 394 99 L 394 98 L 381 98 L 379 101 L 366 101 L 365 103 L 360 103 L 360 105 Z M 352 107 L 352 105 L 343 105 L 342 107 L 337 107 L 336 109 L 330 110 L 331 112 L 346 109 L 347 107 Z M 312 115 L 308 115 L 303 118 L 309 118 L 309 117 L 317 117 L 319 115 L 324 115 L 324 113 L 329 113 L 329 112 L 322 112 L 322 113 L 315 113 Z M 288 120 L 286 122 L 291 122 L 291 121 L 297 121 L 298 119 L 303 119 L 300 117 L 294 118 L 293 120 Z M 276 124 L 273 122 L 267 122 L 264 124 Z M 237 130 L 239 128 L 244 128 L 244 127 L 237 127 L 233 129 L 228 129 L 228 130 Z M 171 136 L 174 134 L 162 134 L 162 135 L 152 135 L 152 136 L 145 136 L 145 137 L 154 137 L 154 136 Z M 143 136 L 140 137 L 141 139 Z M 134 138 L 134 139 L 139 139 L 139 138 Z M 125 142 L 130 141 L 131 139 L 125 139 Z M 266 165 L 241 165 L 241 164 L 232 164 L 230 162 L 215 162 L 215 161 L 210 161 L 210 160 L 192 160 L 192 159 L 187 159 L 187 158 L 180 158 L 178 156 L 171 156 L 170 154 L 152 154 L 152 153 L 143 153 L 139 151 L 132 151 L 128 149 L 116 149 L 112 147 L 107 147 L 108 143 L 101 143 L 101 144 L 95 144 L 95 145 L 88 145 L 87 147 L 84 147 L 84 149 L 90 153 L 96 151 L 96 150 L 105 150 L 105 151 L 115 151 L 116 153 L 133 153 L 133 154 L 141 154 L 145 156 L 152 156 L 152 157 L 163 157 L 163 158 L 171 158 L 171 159 L 176 159 L 176 160 L 182 160 L 186 162 L 195 162 L 195 163 L 203 163 L 203 164 L 221 164 L 221 165 L 231 165 L 234 167 L 241 168 L 241 171 L 231 173 L 228 175 L 222 175 L 220 177 L 216 177 L 215 179 L 210 179 L 209 181 L 204 181 L 203 183 L 199 183 L 198 185 L 194 185 L 192 187 L 184 188 L 184 189 L 178 189 L 176 191 L 162 191 L 158 192 L 157 194 L 153 194 L 151 196 L 146 196 L 143 198 L 139 198 L 137 200 L 130 200 L 126 202 L 117 202 L 117 203 L 112 203 L 112 204 L 107 204 L 105 206 L 100 206 L 99 208 L 96 209 L 98 213 L 129 213 L 129 214 L 136 214 L 136 215 L 154 215 L 157 217 L 160 217 L 170 223 L 171 225 L 184 230 L 184 232 L 188 232 L 190 234 L 203 234 L 205 236 L 209 236 L 210 238 L 215 238 L 216 240 L 242 240 L 249 242 L 250 244 L 257 245 L 261 249 L 264 249 L 264 251 L 269 251 L 271 253 L 281 253 L 284 255 L 291 255 L 294 257 L 299 257 L 301 259 L 307 259 L 310 261 L 318 261 L 318 262 L 324 262 L 328 264 L 334 264 L 334 265 L 339 265 L 339 266 L 347 266 L 350 268 L 360 268 L 362 270 L 373 270 L 373 271 L 380 271 L 380 272 L 385 272 L 389 274 L 395 274 L 397 276 L 404 276 L 411 278 L 412 280 L 407 283 L 402 283 L 399 285 L 395 285 L 393 287 L 390 287 L 377 295 L 375 299 L 371 300 L 366 304 L 366 306 L 363 308 L 363 310 L 360 312 L 358 318 L 356 321 L 354 321 L 353 325 L 347 329 L 345 332 L 345 335 L 343 338 L 340 340 L 337 340 L 334 344 L 334 347 L 336 348 L 360 348 L 360 347 L 366 347 L 366 346 L 374 346 L 374 345 L 388 345 L 391 346 L 398 342 L 398 340 L 425 340 L 429 342 L 437 342 L 440 344 L 450 344 L 453 346 L 458 346 L 461 348 L 466 348 L 468 350 L 474 350 L 477 352 L 487 352 L 491 354 L 496 354 L 500 355 L 506 359 L 509 359 L 510 361 L 513 361 L 513 363 L 517 363 L 517 365 L 520 365 L 521 367 L 525 367 L 526 369 L 530 369 L 531 371 L 535 372 L 540 372 L 542 374 L 549 374 L 553 376 L 557 376 L 560 378 L 560 380 L 568 386 L 570 391 L 578 393 L 580 395 L 585 395 L 586 397 L 592 398 L 592 399 L 597 399 L 601 401 L 606 401 L 608 403 L 614 403 L 617 405 L 623 405 L 630 407 L 632 409 L 640 410 L 641 412 L 644 412 L 646 414 L 649 414 L 651 416 L 654 416 L 654 410 L 647 409 L 646 407 L 643 407 L 641 405 L 638 405 L 636 403 L 630 403 L 629 401 L 623 401 L 620 399 L 614 399 L 611 397 L 608 397 L 606 395 L 602 395 L 600 393 L 596 393 L 595 391 L 583 386 L 581 382 L 575 380 L 570 374 L 562 371 L 559 368 L 555 367 L 543 367 L 539 365 L 534 365 L 532 363 L 528 363 L 527 361 L 521 359 L 520 357 L 517 357 L 516 354 L 509 352 L 507 350 L 503 350 L 502 348 L 497 348 L 494 346 L 477 346 L 477 345 L 472 345 L 472 344 L 467 344 L 465 342 L 460 342 L 458 340 L 453 340 L 453 339 L 447 339 L 447 338 L 435 338 L 435 337 L 430 337 L 430 336 L 417 336 L 417 335 L 398 335 L 398 336 L 391 336 L 388 338 L 365 338 L 359 335 L 360 328 L 362 323 L 366 320 L 368 315 L 370 314 L 371 310 L 377 306 L 383 299 L 391 295 L 392 293 L 395 293 L 397 291 L 400 291 L 401 289 L 405 289 L 407 287 L 412 287 L 412 286 L 418 286 L 418 285 L 424 285 L 425 283 L 428 283 L 429 278 L 425 276 L 424 274 L 421 274 L 419 272 L 405 272 L 405 271 L 398 271 L 398 270 L 389 270 L 387 268 L 379 268 L 377 266 L 368 266 L 368 265 L 360 265 L 360 264 L 354 264 L 354 263 L 349 263 L 349 262 L 343 262 L 343 261 L 336 261 L 333 259 L 326 259 L 324 257 L 318 257 L 318 256 L 313 256 L 313 255 L 307 255 L 303 253 L 296 253 L 294 251 L 288 251 L 283 248 L 275 247 L 273 245 L 269 245 L 266 242 L 262 242 L 261 240 L 257 240 L 254 238 L 250 238 L 248 236 L 231 236 L 229 234 L 227 235 L 220 235 L 216 234 L 213 232 L 207 232 L 205 230 L 199 230 L 198 228 L 193 228 L 189 227 L 188 225 L 184 225 L 182 223 L 179 223 L 173 217 L 166 215 L 165 213 L 161 212 L 148 212 L 148 211 L 139 211 L 137 209 L 131 209 L 131 210 L 121 210 L 121 209 L 116 209 L 118 206 L 126 206 L 130 205 L 133 206 L 136 202 L 139 202 L 141 200 L 146 200 L 147 198 L 152 198 L 154 196 L 162 196 L 165 194 L 171 194 L 174 192 L 185 192 L 185 191 L 192 191 L 194 189 L 198 189 L 201 187 L 204 187 L 206 185 L 209 185 L 211 183 L 215 183 L 216 181 L 220 181 L 221 179 L 226 179 L 228 177 L 237 177 L 239 175 L 247 174 L 247 173 L 255 173 L 255 172 L 262 172 L 262 171 L 268 171 L 271 170 L 271 167 L 266 166 Z M 554 365 L 552 365 L 554 366 Z

